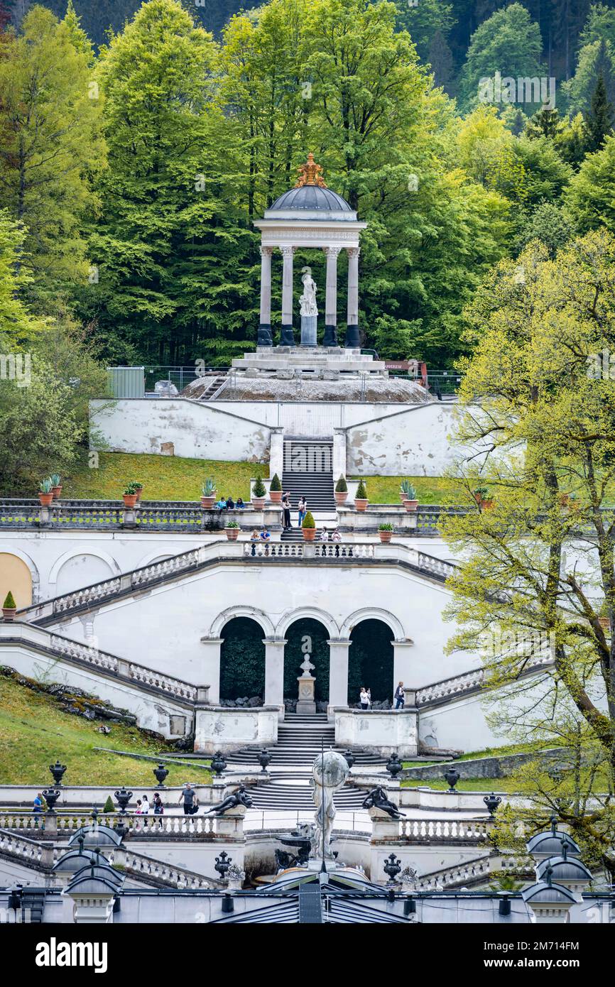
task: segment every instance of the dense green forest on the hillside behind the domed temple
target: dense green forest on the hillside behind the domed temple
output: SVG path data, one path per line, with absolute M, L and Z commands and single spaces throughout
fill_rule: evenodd
M 605 4 L 270 0 L 216 21 L 209 0 L 3 2 L 4 351 L 54 332 L 93 379 L 100 360 L 228 365 L 256 343 L 253 219 L 308 151 L 368 223 L 360 329 L 385 356 L 452 367 L 500 260 L 613 227 Z M 345 280 L 342 262 L 341 314 Z

